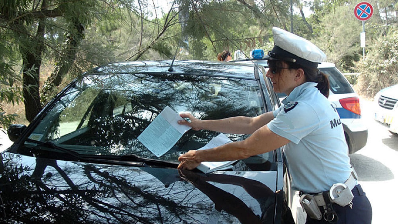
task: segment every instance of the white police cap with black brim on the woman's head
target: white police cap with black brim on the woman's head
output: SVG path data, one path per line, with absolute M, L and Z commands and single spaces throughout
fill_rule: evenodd
M 310 41 L 277 27 L 272 28 L 272 33 L 275 46 L 265 59 L 291 61 L 314 68 L 326 60 L 325 53 Z

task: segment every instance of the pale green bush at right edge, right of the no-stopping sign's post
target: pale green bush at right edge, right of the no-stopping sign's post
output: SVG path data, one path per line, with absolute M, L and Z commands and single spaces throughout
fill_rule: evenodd
M 398 29 L 391 26 L 369 50 L 365 60 L 356 64 L 358 72 L 358 93 L 374 97 L 382 88 L 398 83 Z

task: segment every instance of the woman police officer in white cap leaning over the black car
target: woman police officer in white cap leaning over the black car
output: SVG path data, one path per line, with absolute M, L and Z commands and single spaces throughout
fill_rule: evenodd
M 353 174 L 343 127 L 327 99 L 328 77 L 318 70 L 326 55 L 313 43 L 280 28 L 273 28 L 274 47 L 269 51 L 267 77 L 275 92 L 287 97 L 283 106 L 250 118 L 179 121 L 193 130 L 251 134 L 206 150 L 181 155 L 179 169 L 194 169 L 203 161 L 232 161 L 275 150 L 283 145 L 292 176 L 300 191 L 307 224 L 370 224 L 371 204 Z M 314 205 L 316 206 L 310 206 Z

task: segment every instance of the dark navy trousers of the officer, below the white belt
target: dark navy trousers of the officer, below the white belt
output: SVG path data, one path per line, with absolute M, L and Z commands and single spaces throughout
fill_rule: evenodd
M 333 209 L 338 216 L 336 224 L 371 224 L 372 206 L 361 185 L 355 186 L 352 193 L 354 195 L 352 209 L 349 205 L 342 207 L 333 203 Z M 324 218 L 316 220 L 307 216 L 306 224 L 328 224 L 328 222 Z

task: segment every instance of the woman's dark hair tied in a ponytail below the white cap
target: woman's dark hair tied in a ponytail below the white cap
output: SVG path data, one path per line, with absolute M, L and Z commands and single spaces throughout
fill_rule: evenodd
M 318 85 L 316 85 L 315 87 L 318 88 L 318 90 L 324 96 L 326 96 L 326 98 L 329 97 L 330 83 L 329 83 L 329 77 L 325 73 L 319 71 L 318 68 L 304 67 L 302 65 L 290 61 L 285 61 L 285 63 L 288 65 L 289 69 L 302 69 L 304 71 L 304 76 L 306 81 L 318 83 Z M 277 68 L 281 67 L 282 61 L 268 60 L 268 66 L 270 67 L 270 69 L 272 67 L 277 67 Z M 278 71 L 278 69 L 276 71 Z

